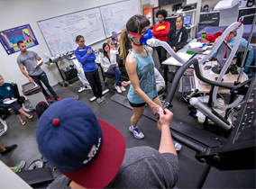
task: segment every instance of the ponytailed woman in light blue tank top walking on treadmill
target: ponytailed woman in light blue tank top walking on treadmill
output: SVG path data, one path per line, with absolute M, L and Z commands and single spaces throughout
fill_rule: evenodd
M 142 131 L 137 127 L 137 122 L 142 118 L 145 104 L 148 104 L 153 113 L 158 112 L 162 106 L 156 88 L 152 49 L 143 46 L 140 41 L 149 25 L 150 21 L 145 16 L 136 14 L 126 23 L 126 29 L 120 37 L 121 57 L 132 83 L 127 95 L 133 108 L 132 125 L 129 130 L 136 139 L 144 138 Z

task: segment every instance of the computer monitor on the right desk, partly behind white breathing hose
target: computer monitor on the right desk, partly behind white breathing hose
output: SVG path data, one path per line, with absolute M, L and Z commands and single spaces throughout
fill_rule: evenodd
M 220 74 L 223 67 L 224 67 L 224 64 L 225 64 L 225 61 L 226 59 L 229 57 L 230 53 L 231 53 L 231 47 L 229 45 L 227 45 L 227 49 L 226 49 L 226 42 L 223 41 L 223 43 L 221 44 L 220 48 L 217 50 L 216 52 L 216 60 L 218 62 L 218 66 L 215 66 L 212 68 L 212 71 L 215 73 L 215 74 Z M 226 51 L 226 58 L 224 58 L 224 55 L 225 55 L 225 51 Z M 229 72 L 229 69 L 227 69 L 226 73 L 227 74 Z

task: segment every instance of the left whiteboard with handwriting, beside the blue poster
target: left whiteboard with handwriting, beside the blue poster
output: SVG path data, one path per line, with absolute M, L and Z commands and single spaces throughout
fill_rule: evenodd
M 76 37 L 84 36 L 86 45 L 105 40 L 99 8 L 39 21 L 39 27 L 52 56 L 78 48 Z

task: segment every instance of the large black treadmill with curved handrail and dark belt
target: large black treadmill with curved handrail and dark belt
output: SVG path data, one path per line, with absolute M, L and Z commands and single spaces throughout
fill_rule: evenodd
M 176 188 L 255 188 L 256 76 L 233 86 L 231 89 L 233 92 L 245 94 L 245 100 L 254 99 L 254 101 L 242 103 L 239 116 L 231 130 L 216 133 L 205 130 L 197 121 L 191 121 L 193 122 L 191 124 L 190 121 L 185 122 L 175 117 L 176 107 L 180 107 L 178 103 L 181 103 L 175 95 L 178 82 L 184 69 L 191 64 L 196 66 L 197 71 L 199 68 L 197 59 L 188 60 L 178 69 L 167 97 L 169 110 L 174 113 L 169 126 L 172 138 L 182 145 L 181 150 L 178 151 L 179 178 Z M 200 73 L 197 74 L 199 78 Z M 201 80 L 204 81 L 204 78 Z M 207 79 L 204 82 L 207 82 Z M 224 87 L 223 84 L 216 82 L 211 85 Z M 150 108 L 145 108 L 138 123 L 145 138 L 135 139 L 128 130 L 133 115 L 128 99 L 122 94 L 114 94 L 111 99 L 110 103 L 96 112 L 96 116 L 123 133 L 126 148 L 150 146 L 158 149 L 160 131 L 157 129 L 156 119 Z M 184 115 L 187 114 L 184 111 Z M 212 127 L 217 128 L 217 126 Z

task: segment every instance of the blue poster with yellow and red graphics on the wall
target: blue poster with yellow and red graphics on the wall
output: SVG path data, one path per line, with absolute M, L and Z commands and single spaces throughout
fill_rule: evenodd
M 17 42 L 23 40 L 27 48 L 38 45 L 30 24 L 22 25 L 5 31 L 0 31 L 0 42 L 8 55 L 20 51 Z

